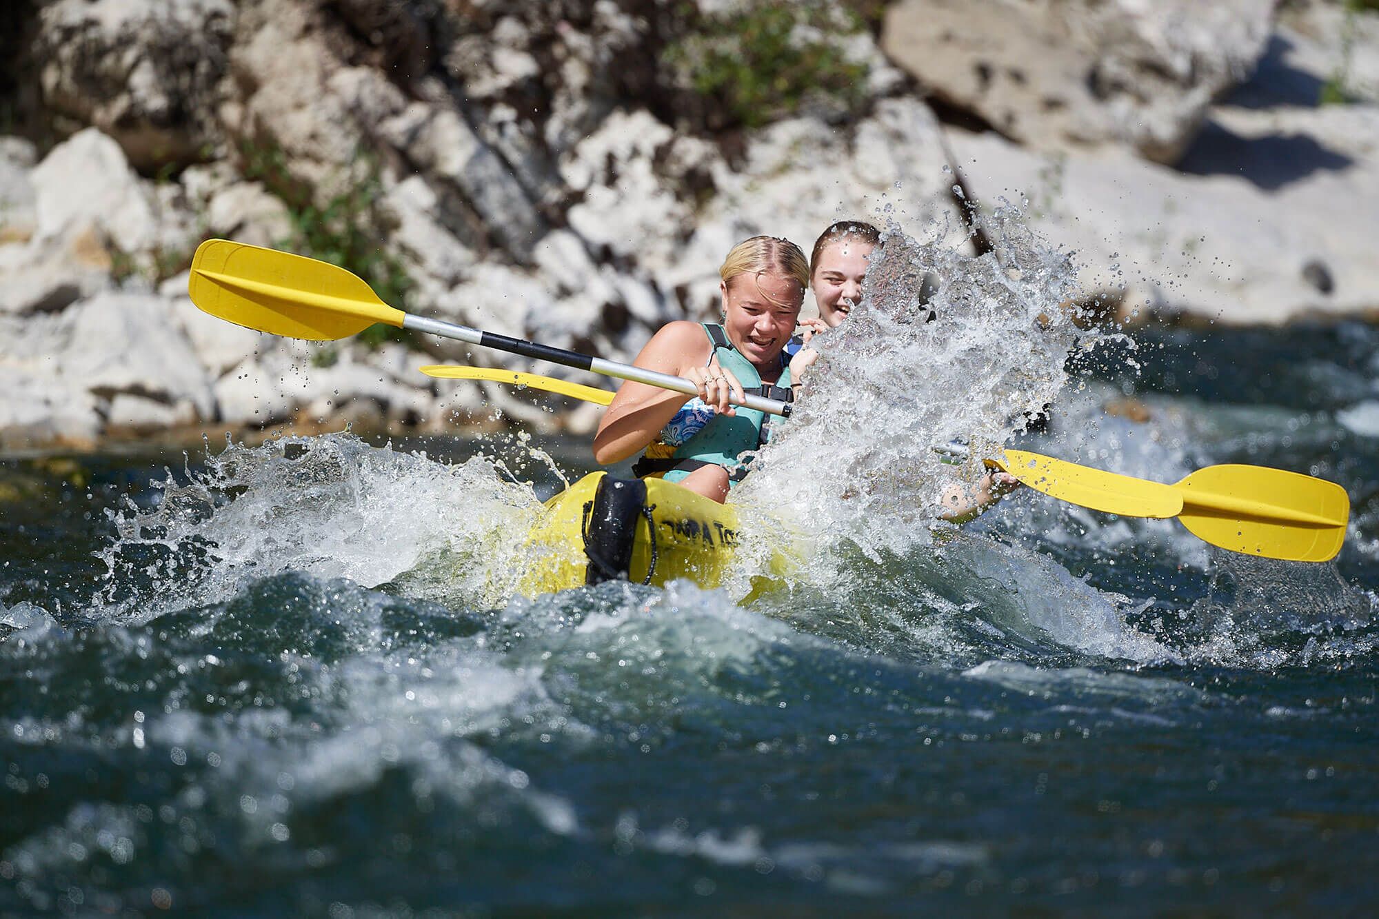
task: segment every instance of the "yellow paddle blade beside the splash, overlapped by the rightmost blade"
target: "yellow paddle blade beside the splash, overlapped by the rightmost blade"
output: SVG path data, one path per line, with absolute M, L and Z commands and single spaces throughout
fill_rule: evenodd
M 1036 491 L 1094 511 L 1125 517 L 1172 517 L 1183 509 L 1183 498 L 1172 486 L 1037 453 L 1007 450 L 1004 468 Z

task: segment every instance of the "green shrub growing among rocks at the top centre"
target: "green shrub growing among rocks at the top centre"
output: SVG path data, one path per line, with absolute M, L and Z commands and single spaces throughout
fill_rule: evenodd
M 698 17 L 661 62 L 672 81 L 702 97 L 710 128 L 760 127 L 814 101 L 854 110 L 866 99 L 867 66 L 849 61 L 838 37 L 865 29 L 848 8 L 818 0 L 747 0 Z

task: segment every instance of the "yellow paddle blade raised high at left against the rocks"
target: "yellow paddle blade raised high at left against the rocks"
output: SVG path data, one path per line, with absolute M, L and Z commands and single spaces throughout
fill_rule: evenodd
M 228 239 L 197 247 L 188 293 L 236 326 L 310 341 L 348 338 L 374 323 L 401 327 L 405 317 L 343 268 Z

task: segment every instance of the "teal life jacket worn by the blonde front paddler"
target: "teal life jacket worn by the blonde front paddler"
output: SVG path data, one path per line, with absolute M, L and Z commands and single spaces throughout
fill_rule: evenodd
M 717 357 L 718 366 L 738 378 L 745 393 L 781 402 L 793 399 L 790 366 L 785 353 L 781 355 L 781 378 L 775 385 L 764 384 L 752 362 L 728 341 L 723 326 L 718 323 L 701 324 L 713 345 L 710 359 Z M 747 464 L 752 462 L 752 457 L 749 455 L 746 460 L 739 460 L 739 457 L 760 450 L 771 439 L 771 424 L 764 411 L 742 406 L 734 408 L 731 415 L 714 414 L 709 424 L 678 447 L 672 448 L 665 443 L 652 443 L 632 468 L 633 475 L 663 475 L 666 482 L 680 482 L 695 469 L 718 465 L 728 469 L 729 484 L 742 482 L 747 475 Z

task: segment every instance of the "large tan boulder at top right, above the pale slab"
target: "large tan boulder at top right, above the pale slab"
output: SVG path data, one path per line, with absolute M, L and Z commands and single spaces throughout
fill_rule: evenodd
M 881 46 L 942 103 L 1040 150 L 1172 163 L 1248 77 L 1274 0 L 905 0 Z

